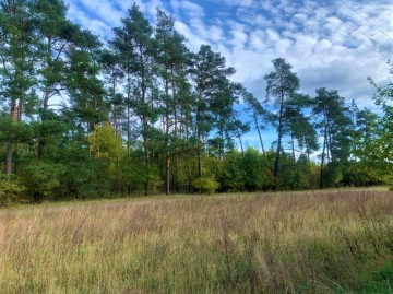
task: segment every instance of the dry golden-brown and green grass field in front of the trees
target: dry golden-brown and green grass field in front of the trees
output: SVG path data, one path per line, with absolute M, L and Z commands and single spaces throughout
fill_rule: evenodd
M 0 210 L 1 293 L 393 293 L 393 193 Z

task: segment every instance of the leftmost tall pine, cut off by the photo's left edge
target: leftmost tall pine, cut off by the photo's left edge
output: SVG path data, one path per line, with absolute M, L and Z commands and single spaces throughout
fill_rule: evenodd
M 31 2 L 25 0 L 1 1 L 0 9 L 0 66 L 1 99 L 5 103 L 9 119 L 17 125 L 22 121 L 25 106 L 35 103 L 35 55 L 37 40 L 31 15 Z M 7 139 L 5 174 L 12 173 L 16 137 Z

